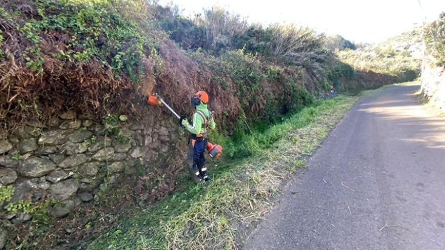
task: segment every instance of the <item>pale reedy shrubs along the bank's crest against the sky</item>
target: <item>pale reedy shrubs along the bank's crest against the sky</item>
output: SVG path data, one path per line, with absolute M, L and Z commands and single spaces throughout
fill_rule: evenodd
M 174 9 L 158 7 L 157 13 L 161 27 L 185 49 L 199 48 L 216 56 L 242 49 L 248 55 L 261 56 L 264 64 L 279 62 L 280 65 L 302 67 L 313 80 L 326 78 L 331 66 L 328 61 L 334 58 L 324 48 L 325 37 L 307 27 L 248 25 L 239 15 L 218 7 L 205 10 L 204 15 L 195 20 L 187 20 Z

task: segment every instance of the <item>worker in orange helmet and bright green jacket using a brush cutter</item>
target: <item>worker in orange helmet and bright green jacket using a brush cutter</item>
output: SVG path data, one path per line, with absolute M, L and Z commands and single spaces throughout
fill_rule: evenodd
M 210 181 L 205 166 L 204 152 L 207 146 L 208 129 L 215 129 L 216 124 L 213 120 L 213 114 L 207 109 L 209 102 L 208 94 L 199 90 L 191 98 L 192 108 L 196 110 L 193 115 L 193 124 L 191 125 L 187 118 L 182 119 L 181 124 L 190 132 L 190 142 L 193 146 L 193 171 L 200 180 Z

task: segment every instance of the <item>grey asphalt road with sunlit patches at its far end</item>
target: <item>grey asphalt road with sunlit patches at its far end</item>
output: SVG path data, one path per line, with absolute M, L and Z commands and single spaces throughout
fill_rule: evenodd
M 418 87 L 355 104 L 244 249 L 445 249 L 445 119 Z

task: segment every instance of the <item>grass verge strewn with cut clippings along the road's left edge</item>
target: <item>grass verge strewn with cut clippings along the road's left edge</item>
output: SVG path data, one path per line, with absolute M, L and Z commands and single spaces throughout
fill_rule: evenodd
M 209 184 L 186 180 L 163 201 L 122 215 L 114 228 L 81 248 L 238 249 L 237 230 L 271 210 L 282 180 L 305 166 L 304 159 L 357 99 L 338 96 L 302 109 L 264 131 L 279 128 L 283 133 L 276 143 L 245 159 L 212 167 Z

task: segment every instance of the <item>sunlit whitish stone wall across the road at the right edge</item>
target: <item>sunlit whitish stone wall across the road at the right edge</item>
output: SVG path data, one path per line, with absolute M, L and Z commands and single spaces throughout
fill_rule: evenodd
M 422 69 L 422 94 L 445 112 L 445 67 L 432 66 L 425 60 Z

